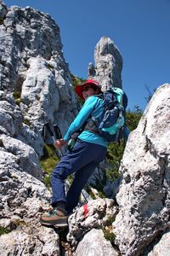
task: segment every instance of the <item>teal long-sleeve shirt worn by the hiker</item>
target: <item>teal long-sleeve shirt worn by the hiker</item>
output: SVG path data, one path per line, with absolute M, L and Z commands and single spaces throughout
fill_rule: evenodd
M 71 135 L 79 130 L 89 117 L 94 116 L 95 118 L 100 119 L 103 111 L 104 101 L 98 96 L 89 96 L 86 102 L 84 102 L 81 111 L 77 114 L 76 119 L 71 123 L 65 134 L 64 140 L 68 142 L 71 139 Z M 94 143 L 107 147 L 107 142 L 104 137 L 100 137 L 98 134 L 90 131 L 82 131 L 78 138 L 87 143 Z

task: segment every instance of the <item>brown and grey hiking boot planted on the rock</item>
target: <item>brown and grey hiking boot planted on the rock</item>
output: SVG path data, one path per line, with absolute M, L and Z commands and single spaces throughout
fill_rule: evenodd
M 55 227 L 66 227 L 68 226 L 67 212 L 63 209 L 54 208 L 48 214 L 43 214 L 40 218 L 40 222 L 43 225 L 55 226 Z

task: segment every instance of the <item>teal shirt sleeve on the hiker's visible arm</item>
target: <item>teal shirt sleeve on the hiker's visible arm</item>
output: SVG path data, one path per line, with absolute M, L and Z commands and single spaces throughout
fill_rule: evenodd
M 71 139 L 72 133 L 79 130 L 82 127 L 82 125 L 84 125 L 85 121 L 90 116 L 90 113 L 93 112 L 97 99 L 98 99 L 97 96 L 90 96 L 88 97 L 86 102 L 84 102 L 82 109 L 77 114 L 76 119 L 74 119 L 74 121 L 71 123 L 68 131 L 65 134 L 65 137 L 64 137 L 65 141 L 69 141 Z

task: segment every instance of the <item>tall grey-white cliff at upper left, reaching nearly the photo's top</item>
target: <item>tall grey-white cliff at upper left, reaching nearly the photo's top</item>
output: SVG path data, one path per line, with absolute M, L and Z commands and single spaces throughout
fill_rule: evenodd
M 59 26 L 49 15 L 30 7 L 7 9 L 3 3 L 1 6 L 0 90 L 19 95 L 18 111 L 23 122 L 29 126 L 30 134 L 37 134 L 36 141 L 34 137 L 34 143 L 29 143 L 42 155 L 43 124 L 59 125 L 64 135 L 78 107 L 62 52 Z M 8 124 L 14 136 L 16 128 L 2 112 L 3 123 Z

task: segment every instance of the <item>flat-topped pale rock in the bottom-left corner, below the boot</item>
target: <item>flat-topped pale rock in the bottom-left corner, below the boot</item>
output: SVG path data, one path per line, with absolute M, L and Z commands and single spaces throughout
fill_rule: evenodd
M 48 255 L 59 256 L 59 236 L 54 230 L 41 228 L 35 230 L 15 230 L 1 236 L 2 256 Z

